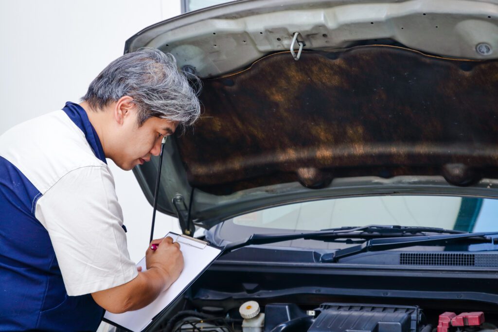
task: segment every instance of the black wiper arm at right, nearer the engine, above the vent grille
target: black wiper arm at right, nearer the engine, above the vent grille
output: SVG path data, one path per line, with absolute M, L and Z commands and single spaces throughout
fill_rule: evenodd
M 480 232 L 480 233 L 464 233 L 450 235 L 432 235 L 432 236 L 412 236 L 412 237 L 388 237 L 374 238 L 360 245 L 339 249 L 333 253 L 322 255 L 322 262 L 337 262 L 339 259 L 353 256 L 367 251 L 383 251 L 389 249 L 399 249 L 416 245 L 441 245 L 455 243 L 459 241 L 466 242 L 491 242 L 495 244 L 498 232 Z

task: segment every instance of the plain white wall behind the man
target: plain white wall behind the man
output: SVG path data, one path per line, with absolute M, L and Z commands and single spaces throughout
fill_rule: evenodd
M 79 102 L 90 82 L 142 28 L 180 14 L 180 0 L 1 0 L 0 134 Z M 131 259 L 147 248 L 152 207 L 132 172 L 109 160 L 123 207 Z M 154 237 L 179 231 L 158 213 Z

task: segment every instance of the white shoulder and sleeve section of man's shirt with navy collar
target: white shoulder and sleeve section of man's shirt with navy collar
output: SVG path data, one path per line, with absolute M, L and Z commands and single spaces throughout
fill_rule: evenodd
M 122 285 L 138 273 L 99 138 L 84 110 L 68 104 L 73 113 L 54 111 L 1 135 L 0 156 L 39 192 L 32 209 L 48 231 L 67 294 L 77 296 Z

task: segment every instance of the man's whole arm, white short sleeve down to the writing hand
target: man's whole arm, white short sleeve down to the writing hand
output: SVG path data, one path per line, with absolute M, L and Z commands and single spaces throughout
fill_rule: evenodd
M 144 273 L 137 272 L 126 248 L 123 214 L 107 166 L 75 169 L 59 179 L 36 204 L 47 229 L 69 296 L 92 294 L 110 312 L 144 307 L 183 268 L 179 244 L 171 238 L 147 249 Z

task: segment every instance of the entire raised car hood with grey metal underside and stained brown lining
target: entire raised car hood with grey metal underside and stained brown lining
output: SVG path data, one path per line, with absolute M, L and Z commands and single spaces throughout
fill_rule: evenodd
M 304 200 L 497 197 L 497 3 L 245 0 L 140 31 L 125 52 L 172 53 L 203 83 L 158 210 L 189 233 Z M 133 170 L 149 202 L 158 162 Z

